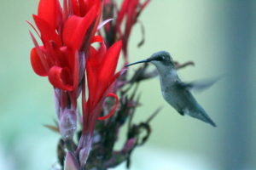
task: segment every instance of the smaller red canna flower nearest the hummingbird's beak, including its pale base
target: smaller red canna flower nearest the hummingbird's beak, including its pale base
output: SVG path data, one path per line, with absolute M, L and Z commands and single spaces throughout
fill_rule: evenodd
M 105 43 L 101 47 L 90 47 L 90 55 L 86 59 L 86 74 L 88 82 L 89 97 L 85 98 L 85 79 L 82 89 L 82 105 L 83 105 L 83 135 L 79 141 L 80 162 L 86 161 L 90 145 L 92 142 L 92 133 L 96 124 L 96 120 L 104 120 L 111 116 L 118 105 L 118 97 L 116 94 L 109 93 L 113 82 L 119 77 L 121 71 L 115 73 L 119 54 L 122 48 L 122 42 L 115 42 L 110 48 L 106 48 Z M 84 77 L 85 78 L 85 77 Z M 102 103 L 106 97 L 113 97 L 116 105 L 107 116 L 99 117 L 102 112 Z

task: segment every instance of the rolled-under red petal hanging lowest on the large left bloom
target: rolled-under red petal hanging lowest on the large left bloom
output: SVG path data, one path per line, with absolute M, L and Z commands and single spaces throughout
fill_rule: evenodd
M 67 67 L 61 68 L 53 66 L 49 70 L 49 82 L 55 87 L 62 90 L 72 91 L 71 73 Z

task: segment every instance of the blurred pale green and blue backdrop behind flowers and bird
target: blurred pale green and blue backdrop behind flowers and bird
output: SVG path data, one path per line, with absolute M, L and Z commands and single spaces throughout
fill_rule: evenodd
M 0 0 L 1 170 L 46 170 L 56 162 L 59 136 L 42 126 L 55 118 L 53 89 L 29 59 L 33 45 L 25 20 L 32 21 L 37 6 L 38 0 Z M 162 99 L 158 78 L 143 82 L 136 121 L 164 109 L 152 122 L 148 144 L 132 154 L 131 170 L 256 169 L 256 1 L 152 0 L 140 20 L 146 42 L 137 48 L 141 31 L 135 26 L 131 62 L 166 50 L 181 63 L 195 62 L 178 71 L 184 81 L 225 76 L 195 94 L 217 128 L 179 116 Z

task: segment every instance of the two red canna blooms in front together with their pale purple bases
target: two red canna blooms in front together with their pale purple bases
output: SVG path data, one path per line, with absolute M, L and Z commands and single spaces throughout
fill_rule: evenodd
M 118 101 L 115 94 L 108 92 L 119 76 L 115 70 L 122 42 L 106 48 L 103 38 L 96 36 L 101 15 L 101 0 L 64 0 L 62 8 L 59 0 L 40 0 L 38 14 L 33 15 L 38 29 L 29 23 L 43 43 L 39 45 L 31 33 L 35 45 L 31 50 L 32 68 L 39 76 L 48 77 L 55 88 L 59 129 L 65 141 L 72 140 L 76 131 L 81 92 L 84 135 L 93 133 L 97 118 L 108 118 L 99 117 L 103 99 L 109 96 Z M 99 42 L 100 48 L 93 48 L 94 42 Z M 88 82 L 88 99 L 85 98 L 85 82 Z M 90 141 L 84 144 L 83 139 L 77 150 L 81 165 L 87 156 L 80 152 L 90 147 Z

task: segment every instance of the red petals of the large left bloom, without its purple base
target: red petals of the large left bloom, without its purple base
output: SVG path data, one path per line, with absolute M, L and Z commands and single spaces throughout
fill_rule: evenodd
M 79 72 L 84 68 L 79 68 L 79 61 L 83 60 L 84 51 L 89 51 L 102 3 L 66 0 L 63 6 L 61 10 L 58 0 L 40 0 L 38 15 L 33 15 L 33 19 L 43 46 L 32 36 L 35 48 L 31 51 L 31 63 L 33 70 L 39 76 L 49 77 L 55 88 L 73 91 L 82 78 Z

